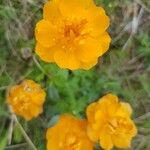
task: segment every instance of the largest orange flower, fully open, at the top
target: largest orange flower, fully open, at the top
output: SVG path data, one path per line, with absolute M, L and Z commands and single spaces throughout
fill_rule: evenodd
M 93 0 L 51 0 L 35 29 L 36 53 L 61 68 L 90 69 L 109 48 L 109 18 Z

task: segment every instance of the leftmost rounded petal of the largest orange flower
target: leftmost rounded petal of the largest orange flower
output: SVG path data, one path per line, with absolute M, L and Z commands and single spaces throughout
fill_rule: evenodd
M 35 37 L 43 47 L 51 47 L 55 44 L 56 31 L 54 26 L 46 20 L 41 20 L 36 24 Z

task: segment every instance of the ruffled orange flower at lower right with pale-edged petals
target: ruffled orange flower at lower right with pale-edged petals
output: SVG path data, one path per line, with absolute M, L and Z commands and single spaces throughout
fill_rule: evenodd
M 130 147 L 137 129 L 130 116 L 132 109 L 128 103 L 119 102 L 118 97 L 108 94 L 87 107 L 88 136 L 99 141 L 102 148 L 113 146 Z

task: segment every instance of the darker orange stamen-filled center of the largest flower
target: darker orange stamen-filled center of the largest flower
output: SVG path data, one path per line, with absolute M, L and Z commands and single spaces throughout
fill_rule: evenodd
M 86 24 L 86 19 L 80 21 L 64 20 L 63 26 L 61 26 L 58 31 L 59 38 L 55 39 L 57 45 L 60 45 L 64 50 L 72 52 L 76 48 L 76 44 L 80 43 L 80 41 L 88 34 L 85 30 Z

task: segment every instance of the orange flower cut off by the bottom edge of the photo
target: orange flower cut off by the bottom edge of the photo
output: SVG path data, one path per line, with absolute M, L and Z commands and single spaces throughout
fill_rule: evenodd
M 47 150 L 93 150 L 86 127 L 85 120 L 61 115 L 58 123 L 47 130 Z

